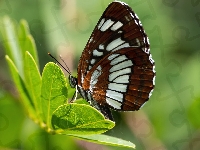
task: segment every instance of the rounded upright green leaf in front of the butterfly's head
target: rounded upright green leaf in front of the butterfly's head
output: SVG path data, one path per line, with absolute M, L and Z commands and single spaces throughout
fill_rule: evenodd
M 45 65 L 42 73 L 41 103 L 43 120 L 51 128 L 51 116 L 60 105 L 67 102 L 66 78 L 60 67 L 54 63 Z

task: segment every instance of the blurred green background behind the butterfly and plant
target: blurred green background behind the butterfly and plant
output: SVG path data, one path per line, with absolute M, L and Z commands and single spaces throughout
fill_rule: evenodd
M 0 18 L 29 23 L 40 71 L 61 55 L 76 71 L 81 52 L 111 0 L 0 1 Z M 200 1 L 124 0 L 137 13 L 150 39 L 156 87 L 138 112 L 114 112 L 107 134 L 136 144 L 138 150 L 200 149 Z M 0 26 L 2 21 L 0 20 Z M 122 150 L 62 135 L 49 135 L 20 104 L 0 39 L 0 149 Z

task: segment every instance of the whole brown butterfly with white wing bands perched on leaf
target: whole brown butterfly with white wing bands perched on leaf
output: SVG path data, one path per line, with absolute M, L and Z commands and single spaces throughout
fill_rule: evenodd
M 152 94 L 155 66 L 138 16 L 124 2 L 106 8 L 79 60 L 72 88 L 107 119 L 111 109 L 138 110 Z

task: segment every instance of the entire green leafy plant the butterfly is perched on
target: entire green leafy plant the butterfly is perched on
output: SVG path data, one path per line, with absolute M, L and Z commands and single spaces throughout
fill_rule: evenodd
M 85 100 L 68 103 L 67 81 L 59 66 L 49 62 L 40 75 L 35 42 L 25 20 L 20 21 L 17 28 L 8 17 L 4 17 L 3 24 L 1 33 L 5 57 L 30 118 L 48 133 L 113 146 L 135 147 L 129 141 L 101 134 L 112 129 L 115 123 L 105 119 Z

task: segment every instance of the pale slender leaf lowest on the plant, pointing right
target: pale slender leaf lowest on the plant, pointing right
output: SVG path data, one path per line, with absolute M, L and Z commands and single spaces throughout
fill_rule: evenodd
M 76 134 L 69 134 L 70 136 L 83 139 L 89 142 L 97 143 L 97 144 L 104 144 L 104 145 L 111 145 L 111 146 L 118 146 L 118 147 L 127 147 L 127 148 L 134 148 L 135 144 L 131 143 L 130 141 L 125 141 L 116 137 L 104 135 L 104 134 L 95 134 L 95 135 L 76 135 Z

